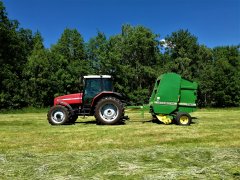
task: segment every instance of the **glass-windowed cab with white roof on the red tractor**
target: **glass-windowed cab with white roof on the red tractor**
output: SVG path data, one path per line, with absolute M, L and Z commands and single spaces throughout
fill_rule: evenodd
M 104 91 L 113 92 L 113 82 L 110 75 L 83 76 L 83 103 L 91 105 L 92 100 Z

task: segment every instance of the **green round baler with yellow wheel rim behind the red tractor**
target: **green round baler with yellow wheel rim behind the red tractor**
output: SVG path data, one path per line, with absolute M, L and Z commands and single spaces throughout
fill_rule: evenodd
M 165 124 L 175 120 L 178 125 L 190 125 L 189 113 L 196 110 L 197 88 L 196 82 L 176 73 L 161 75 L 149 100 L 152 116 Z

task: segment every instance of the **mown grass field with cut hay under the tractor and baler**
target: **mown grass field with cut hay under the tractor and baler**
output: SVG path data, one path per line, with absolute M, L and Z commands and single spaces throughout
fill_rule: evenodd
M 240 109 L 199 110 L 188 127 L 144 120 L 50 126 L 0 114 L 0 179 L 240 179 Z

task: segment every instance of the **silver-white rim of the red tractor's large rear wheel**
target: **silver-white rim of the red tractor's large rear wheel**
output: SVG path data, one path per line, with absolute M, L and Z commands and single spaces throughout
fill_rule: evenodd
M 100 116 L 105 121 L 114 121 L 118 117 L 118 108 L 113 104 L 105 104 L 100 109 Z

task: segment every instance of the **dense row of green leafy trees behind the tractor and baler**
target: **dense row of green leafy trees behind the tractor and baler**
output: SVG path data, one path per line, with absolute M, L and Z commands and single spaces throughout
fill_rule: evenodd
M 0 1 L 0 109 L 50 106 L 55 96 L 79 92 L 79 77 L 88 74 L 112 75 L 130 104 L 147 103 L 165 72 L 197 81 L 201 107 L 240 106 L 240 45 L 208 48 L 182 29 L 165 42 L 140 25 L 119 31 L 84 42 L 77 29 L 66 28 L 45 48 L 41 33 L 9 19 Z

